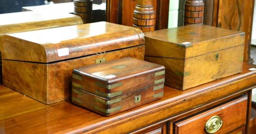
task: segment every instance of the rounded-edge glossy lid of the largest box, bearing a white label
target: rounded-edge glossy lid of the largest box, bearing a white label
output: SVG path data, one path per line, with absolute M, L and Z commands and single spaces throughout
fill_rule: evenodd
M 3 36 L 2 59 L 51 63 L 144 44 L 134 27 L 95 22 Z

